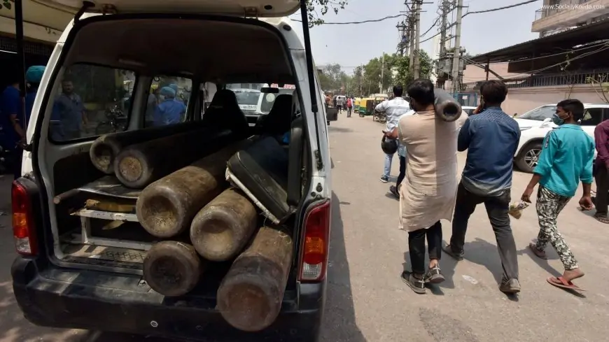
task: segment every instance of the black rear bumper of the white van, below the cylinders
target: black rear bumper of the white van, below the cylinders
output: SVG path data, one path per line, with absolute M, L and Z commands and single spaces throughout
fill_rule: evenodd
M 300 284 L 298 299 L 284 299 L 271 327 L 245 333 L 223 320 L 215 310 L 215 299 L 168 299 L 141 283 L 139 276 L 52 266 L 38 271 L 33 259 L 23 257 L 15 259 L 11 273 L 15 298 L 25 318 L 45 327 L 218 342 L 311 342 L 318 339 L 325 303 L 325 282 Z

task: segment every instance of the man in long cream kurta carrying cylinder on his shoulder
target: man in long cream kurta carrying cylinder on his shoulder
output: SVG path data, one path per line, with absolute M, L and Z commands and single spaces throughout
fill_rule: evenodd
M 398 88 L 398 91 L 395 91 Z M 394 87 L 398 100 L 401 87 Z M 430 80 L 414 80 L 408 87 L 414 115 L 402 115 L 397 128 L 386 132 L 405 146 L 406 177 L 400 188 L 400 229 L 408 231 L 412 271 L 401 278 L 419 294 L 426 283 L 441 283 L 442 225 L 451 220 L 457 188 L 455 122 L 444 122 L 435 115 L 435 96 Z M 392 100 L 393 101 L 393 100 Z M 399 101 L 399 100 L 398 100 Z M 429 264 L 425 262 L 425 239 Z

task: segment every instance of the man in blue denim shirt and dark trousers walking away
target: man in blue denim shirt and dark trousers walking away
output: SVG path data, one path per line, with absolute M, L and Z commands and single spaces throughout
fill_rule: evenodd
M 517 122 L 501 110 L 507 87 L 489 80 L 480 87 L 484 110 L 468 117 L 458 133 L 458 150 L 468 150 L 467 161 L 458 185 L 452 236 L 444 252 L 463 259 L 463 245 L 468 220 L 478 204 L 484 203 L 495 233 L 503 280 L 499 290 L 506 294 L 520 292 L 516 243 L 510 227 L 510 189 L 513 156 L 520 139 Z M 501 151 L 498 153 L 498 151 Z

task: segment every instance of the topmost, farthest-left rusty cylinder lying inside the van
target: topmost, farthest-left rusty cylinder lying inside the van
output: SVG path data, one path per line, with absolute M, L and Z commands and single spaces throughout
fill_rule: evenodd
M 100 136 L 93 142 L 93 145 L 89 150 L 89 155 L 91 157 L 91 162 L 99 171 L 106 174 L 112 174 L 114 173 L 114 159 L 123 148 L 129 145 L 143 143 L 144 141 L 201 129 L 202 127 L 204 127 L 203 122 L 194 121 L 106 134 Z

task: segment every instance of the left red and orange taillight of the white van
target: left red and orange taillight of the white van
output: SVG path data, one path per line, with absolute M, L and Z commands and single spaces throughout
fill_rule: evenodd
M 15 236 L 17 252 L 21 255 L 36 255 L 38 245 L 29 194 L 21 183 L 14 180 L 10 197 L 13 207 L 13 236 Z

